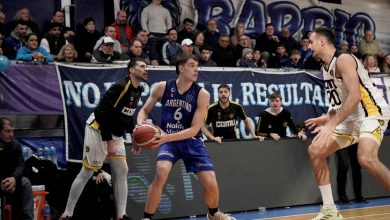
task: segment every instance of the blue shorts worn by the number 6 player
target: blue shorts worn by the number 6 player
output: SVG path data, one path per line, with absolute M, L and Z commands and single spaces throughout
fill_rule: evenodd
M 214 170 L 206 146 L 199 138 L 173 141 L 160 146 L 157 161 L 168 160 L 175 164 L 179 159 L 183 159 L 187 172 Z

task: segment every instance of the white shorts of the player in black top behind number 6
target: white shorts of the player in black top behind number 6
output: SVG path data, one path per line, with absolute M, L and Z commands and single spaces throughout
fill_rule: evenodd
M 123 137 L 113 135 L 112 140 L 117 147 L 117 153 L 116 156 L 109 157 L 108 159 L 126 159 Z M 102 140 L 100 131 L 87 124 L 84 135 L 83 166 L 97 171 L 103 166 L 107 154 L 107 142 Z

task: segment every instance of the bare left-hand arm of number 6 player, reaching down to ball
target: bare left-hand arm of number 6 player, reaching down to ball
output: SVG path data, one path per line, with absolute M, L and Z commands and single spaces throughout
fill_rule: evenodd
M 156 103 L 161 100 L 164 95 L 166 82 L 159 82 L 154 89 L 152 90 L 149 98 L 146 100 L 145 104 L 142 106 L 141 110 L 139 110 L 137 115 L 137 124 L 142 124 L 142 122 L 148 119 L 149 113 L 152 111 Z

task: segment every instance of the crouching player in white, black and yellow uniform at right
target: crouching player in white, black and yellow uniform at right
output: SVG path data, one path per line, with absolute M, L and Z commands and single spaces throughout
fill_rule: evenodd
M 323 206 L 313 220 L 343 219 L 330 186 L 327 157 L 358 142 L 360 165 L 390 190 L 390 171 L 378 160 L 378 150 L 390 118 L 390 108 L 362 63 L 352 54 L 337 53 L 331 29 L 319 27 L 309 37 L 314 58 L 324 62 L 322 72 L 329 99 L 326 115 L 305 121 L 316 133 L 309 155 Z

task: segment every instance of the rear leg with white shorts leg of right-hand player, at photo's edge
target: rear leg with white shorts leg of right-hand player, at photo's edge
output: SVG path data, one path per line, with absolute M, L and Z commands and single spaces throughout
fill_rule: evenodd
M 390 191 L 390 171 L 379 161 L 378 152 L 387 128 L 387 121 L 366 118 L 360 125 L 358 160 L 360 165 L 375 176 Z

